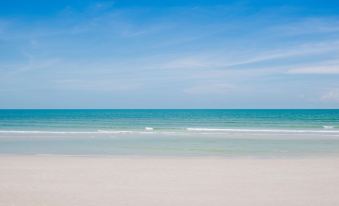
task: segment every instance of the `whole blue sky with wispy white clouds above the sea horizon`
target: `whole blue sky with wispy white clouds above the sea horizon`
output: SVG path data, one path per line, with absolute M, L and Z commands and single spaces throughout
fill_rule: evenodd
M 1 0 L 0 108 L 339 108 L 339 1 Z

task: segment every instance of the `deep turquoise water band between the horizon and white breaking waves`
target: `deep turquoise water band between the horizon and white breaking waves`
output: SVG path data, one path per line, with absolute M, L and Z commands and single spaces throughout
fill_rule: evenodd
M 0 110 L 0 130 L 339 130 L 339 110 Z

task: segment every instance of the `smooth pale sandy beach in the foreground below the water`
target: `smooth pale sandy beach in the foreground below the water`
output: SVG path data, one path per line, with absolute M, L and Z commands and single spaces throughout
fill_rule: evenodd
M 339 157 L 0 156 L 0 205 L 339 205 Z

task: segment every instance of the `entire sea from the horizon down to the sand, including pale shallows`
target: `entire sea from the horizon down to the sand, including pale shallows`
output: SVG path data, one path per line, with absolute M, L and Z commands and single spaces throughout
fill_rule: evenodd
M 339 110 L 0 110 L 0 153 L 339 154 Z

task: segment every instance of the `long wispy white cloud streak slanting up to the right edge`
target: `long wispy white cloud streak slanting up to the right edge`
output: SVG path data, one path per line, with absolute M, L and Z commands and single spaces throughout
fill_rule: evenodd
M 240 65 L 250 67 L 253 64 L 288 59 L 294 57 L 319 55 L 326 52 L 339 53 L 339 41 L 325 41 L 294 45 L 279 50 L 249 51 L 240 50 L 235 53 L 224 51 L 207 51 L 186 57 L 173 58 L 162 64 L 163 68 L 230 68 Z M 291 72 L 292 73 L 292 72 Z

